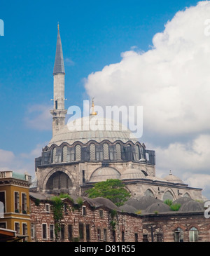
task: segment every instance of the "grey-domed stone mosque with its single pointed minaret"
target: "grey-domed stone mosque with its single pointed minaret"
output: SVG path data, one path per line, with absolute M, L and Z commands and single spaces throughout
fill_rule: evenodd
M 57 31 L 54 78 L 54 107 L 52 139 L 41 156 L 35 159 L 35 178 L 30 190 L 45 196 L 68 193 L 86 196 L 86 190 L 96 182 L 118 179 L 132 194 L 132 198 L 153 196 L 162 201 L 188 197 L 202 199 L 202 189 L 188 184 L 170 171 L 164 178 L 155 175 L 155 151 L 146 149 L 123 124 L 97 116 L 92 112 L 72 121 L 80 129 L 69 129 L 65 124 L 65 70 L 62 43 Z M 97 129 L 90 129 L 90 122 Z M 109 126 L 109 130 L 106 127 Z M 117 127 L 117 129 L 116 129 Z

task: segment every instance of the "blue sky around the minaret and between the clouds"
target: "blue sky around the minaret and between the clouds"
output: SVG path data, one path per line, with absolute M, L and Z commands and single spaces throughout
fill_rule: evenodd
M 33 175 L 34 157 L 52 137 L 48 111 L 52 109 L 57 22 L 66 71 L 66 108 L 71 105 L 81 107 L 91 91 L 97 91 L 98 103 L 99 97 L 109 100 L 109 95 L 103 95 L 100 84 L 94 86 L 89 79 L 90 83 L 85 87 L 84 79 L 106 66 L 120 63 L 121 53 L 135 48 L 139 52 L 149 52 L 153 48 L 153 37 L 165 30 L 167 22 L 177 12 L 196 5 L 197 1 L 163 0 L 1 0 L 4 36 L 0 36 L 0 168 L 13 168 L 19 172 L 27 169 Z M 115 97 L 120 96 L 116 93 Z M 209 129 L 205 130 L 205 135 L 207 133 Z M 199 135 L 203 135 L 203 131 L 197 131 L 196 136 Z M 150 149 L 157 147 L 159 155 L 160 151 L 166 152 L 174 145 L 181 149 L 191 147 L 190 155 L 194 151 L 192 145 L 197 142 L 196 136 L 194 132 L 188 133 L 188 128 L 179 133 L 179 137 L 176 133 L 157 135 L 156 131 L 150 130 L 144 132 L 143 139 Z M 160 141 L 161 147 L 158 146 Z M 171 141 L 174 144 L 170 146 Z M 160 161 L 165 159 L 160 157 Z M 186 166 L 190 166 L 190 161 L 188 163 Z M 172 167 L 160 164 L 158 168 L 168 171 Z M 176 169 L 179 175 L 183 174 L 180 166 Z M 204 175 L 207 175 L 207 169 L 207 166 L 202 169 Z

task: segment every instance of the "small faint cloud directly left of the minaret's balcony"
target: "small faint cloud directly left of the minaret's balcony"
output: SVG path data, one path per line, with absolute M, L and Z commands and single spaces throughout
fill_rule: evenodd
M 52 109 L 52 106 L 49 105 L 32 105 L 28 107 L 25 116 L 27 127 L 34 130 L 52 130 L 50 109 Z

